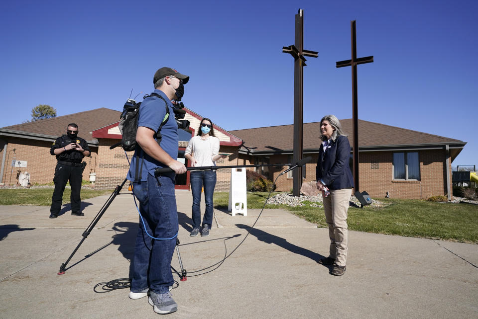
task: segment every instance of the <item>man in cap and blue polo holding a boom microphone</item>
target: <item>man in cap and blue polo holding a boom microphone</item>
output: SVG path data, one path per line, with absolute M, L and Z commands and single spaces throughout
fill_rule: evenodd
M 179 86 L 188 80 L 188 76 L 171 68 L 161 68 L 154 74 L 154 93 L 160 97 L 150 95 L 141 102 L 136 131 L 138 146 L 127 175 L 144 220 L 144 224 L 140 221 L 136 236 L 129 298 L 139 299 L 149 294 L 149 304 L 158 314 L 177 310 L 169 292 L 174 283 L 170 267 L 179 229 L 174 185 L 175 174 L 185 173 L 186 166 L 176 160 L 178 125 L 171 99 L 179 97 Z M 161 126 L 166 107 L 169 117 Z M 161 138 L 157 138 L 160 127 Z M 139 165 L 136 161 L 140 161 Z M 155 177 L 154 170 L 158 167 L 169 167 L 173 172 Z

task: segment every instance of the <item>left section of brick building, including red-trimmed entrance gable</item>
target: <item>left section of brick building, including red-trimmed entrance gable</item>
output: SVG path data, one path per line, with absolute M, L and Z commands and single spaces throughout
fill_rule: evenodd
M 195 135 L 202 117 L 186 109 L 185 119 L 191 122 L 190 131 L 180 130 L 178 160 L 184 159 L 188 141 Z M 78 136 L 85 139 L 91 150 L 91 157 L 85 158 L 87 166 L 84 180 L 95 179 L 95 188 L 113 189 L 125 179 L 129 168 L 126 155 L 121 148 L 110 150 L 119 142 L 118 128 L 121 112 L 99 108 L 65 116 L 58 116 L 31 123 L 0 128 L 0 182 L 15 184 L 17 171 L 27 171 L 30 183 L 45 184 L 53 180 L 56 158 L 50 155 L 50 147 L 58 136 L 66 133 L 69 123 L 79 127 Z M 230 154 L 218 160 L 217 165 L 237 165 L 239 147 L 242 141 L 221 127 L 214 125 L 216 137 L 220 140 L 220 153 Z M 127 154 L 131 158 L 133 152 Z M 18 166 L 12 166 L 16 164 Z M 218 170 L 216 191 L 229 191 L 230 172 Z M 176 177 L 176 189 L 189 189 L 189 172 Z

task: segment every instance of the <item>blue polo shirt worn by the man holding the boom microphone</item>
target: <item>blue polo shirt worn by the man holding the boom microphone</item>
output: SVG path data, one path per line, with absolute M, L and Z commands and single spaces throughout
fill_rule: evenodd
M 138 127 L 144 126 L 150 128 L 154 132 L 157 132 L 159 126 L 164 120 L 166 115 L 166 105 L 169 108 L 169 118 L 168 121 L 161 128 L 161 143 L 159 144 L 161 148 L 169 154 L 173 159 L 178 157 L 178 125 L 174 119 L 173 104 L 168 99 L 166 94 L 163 91 L 158 89 L 154 90 L 154 93 L 161 95 L 166 103 L 156 96 L 151 96 L 145 98 L 141 102 L 139 107 L 139 117 L 138 117 Z M 154 176 L 154 169 L 157 167 L 167 167 L 166 164 L 161 163 L 158 160 L 153 159 L 147 155 L 141 148 L 136 147 L 134 151 L 134 156 L 129 165 L 129 171 L 126 178 L 128 180 L 134 181 L 134 173 L 136 169 L 136 155 L 139 155 L 139 170 L 141 170 L 141 178 L 139 181 L 147 180 L 148 174 Z M 141 156 L 144 155 L 141 168 Z M 138 174 L 139 175 L 139 174 Z

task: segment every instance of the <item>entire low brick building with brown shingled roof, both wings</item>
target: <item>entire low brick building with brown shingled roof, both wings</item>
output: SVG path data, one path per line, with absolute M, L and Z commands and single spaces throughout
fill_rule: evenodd
M 69 123 L 77 123 L 79 136 L 88 141 L 92 156 L 85 158 L 87 167 L 83 178 L 95 177 L 96 188 L 114 188 L 120 184 L 129 167 L 121 148 L 110 150 L 120 139 L 119 111 L 99 108 L 91 111 L 59 116 L 32 123 L 0 128 L 0 182 L 16 182 L 17 170 L 28 171 L 31 183 L 49 183 L 53 179 L 55 157 L 49 153 L 53 141 L 66 132 Z M 185 119 L 191 122 L 190 131 L 180 132 L 178 160 L 202 117 L 186 109 Z M 344 131 L 353 141 L 352 120 L 341 120 Z M 303 169 L 303 180 L 315 180 L 320 123 L 303 125 L 304 157 L 312 161 Z M 221 165 L 259 163 L 290 163 L 293 154 L 293 125 L 226 131 L 214 125 L 220 139 L 220 153 L 231 156 L 218 160 Z M 427 133 L 359 120 L 359 176 L 360 191 L 372 197 L 427 198 L 434 195 L 452 195 L 451 163 L 461 152 L 465 142 Z M 13 151 L 15 150 L 15 151 Z M 129 152 L 128 157 L 132 156 Z M 15 161 L 22 167 L 12 167 Z M 351 161 L 352 165 L 352 154 Z M 261 167 L 257 170 L 275 180 L 286 169 Z M 230 170 L 219 169 L 216 191 L 229 191 Z M 189 172 L 177 176 L 177 189 L 189 189 Z M 277 180 L 278 191 L 292 189 L 292 174 Z

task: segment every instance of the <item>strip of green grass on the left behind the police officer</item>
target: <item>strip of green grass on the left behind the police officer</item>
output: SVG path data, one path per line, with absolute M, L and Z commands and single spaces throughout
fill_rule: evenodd
M 88 199 L 100 195 L 111 194 L 113 190 L 81 190 L 81 199 Z M 63 201 L 70 201 L 71 189 L 65 188 L 63 192 Z M 51 195 L 53 188 L 33 188 L 33 189 L 0 189 L 0 205 L 37 205 L 51 206 Z

